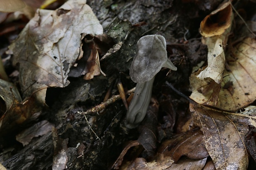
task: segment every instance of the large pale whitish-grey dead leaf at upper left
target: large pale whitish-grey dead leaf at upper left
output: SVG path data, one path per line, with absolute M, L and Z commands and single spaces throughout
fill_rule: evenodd
M 50 87 L 65 87 L 69 70 L 81 51 L 87 34 L 102 34 L 103 28 L 86 0 L 69 0 L 55 11 L 38 9 L 9 50 L 13 65 L 19 64 L 24 96 Z M 45 92 L 40 94 L 45 99 Z

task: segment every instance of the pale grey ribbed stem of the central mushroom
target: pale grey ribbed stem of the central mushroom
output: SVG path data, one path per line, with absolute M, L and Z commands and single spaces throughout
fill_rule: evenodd
M 137 83 L 126 115 L 127 128 L 135 128 L 144 119 L 149 106 L 154 79 L 155 77 L 147 82 Z

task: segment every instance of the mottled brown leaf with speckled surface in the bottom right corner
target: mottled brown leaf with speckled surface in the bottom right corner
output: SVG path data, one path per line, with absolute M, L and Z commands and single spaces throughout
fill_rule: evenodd
M 244 138 L 248 119 L 190 104 L 192 116 L 204 133 L 204 142 L 217 170 L 246 170 Z

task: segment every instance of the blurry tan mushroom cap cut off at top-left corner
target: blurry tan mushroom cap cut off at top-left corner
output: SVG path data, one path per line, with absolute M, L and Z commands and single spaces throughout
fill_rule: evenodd
M 22 0 L 0 0 L 0 12 L 14 12 L 26 7 Z

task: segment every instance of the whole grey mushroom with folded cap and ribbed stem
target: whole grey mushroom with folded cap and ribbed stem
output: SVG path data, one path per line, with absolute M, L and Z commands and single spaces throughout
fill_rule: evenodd
M 177 70 L 167 58 L 166 40 L 161 35 L 146 35 L 137 42 L 137 54 L 130 67 L 130 77 L 137 83 L 126 115 L 126 127 L 135 128 L 145 117 L 155 75 L 162 67 Z

